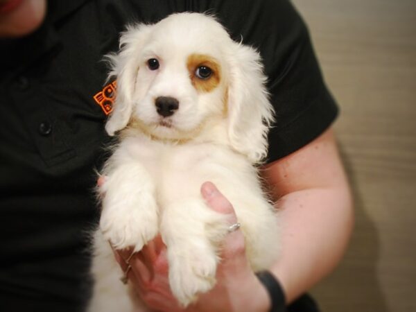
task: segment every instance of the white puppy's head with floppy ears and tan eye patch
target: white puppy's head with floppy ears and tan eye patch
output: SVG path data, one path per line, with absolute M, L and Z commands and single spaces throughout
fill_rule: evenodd
M 110 135 L 131 123 L 160 139 L 191 139 L 219 124 L 239 153 L 255 162 L 266 155 L 272 108 L 259 55 L 214 18 L 178 13 L 130 26 L 109 58 L 117 78 Z

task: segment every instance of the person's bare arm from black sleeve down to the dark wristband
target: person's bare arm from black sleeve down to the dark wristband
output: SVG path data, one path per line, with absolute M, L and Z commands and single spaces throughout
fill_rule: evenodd
M 291 302 L 333 270 L 352 231 L 352 197 L 332 131 L 269 164 L 263 176 L 283 227 L 272 272 Z

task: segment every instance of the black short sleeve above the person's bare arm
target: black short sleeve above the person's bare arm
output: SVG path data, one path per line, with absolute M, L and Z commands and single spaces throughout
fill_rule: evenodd
M 292 3 L 223 1 L 218 14 L 235 40 L 242 37 L 263 58 L 276 112 L 267 161 L 285 157 L 321 135 L 336 119 L 338 107 L 322 78 L 309 31 Z

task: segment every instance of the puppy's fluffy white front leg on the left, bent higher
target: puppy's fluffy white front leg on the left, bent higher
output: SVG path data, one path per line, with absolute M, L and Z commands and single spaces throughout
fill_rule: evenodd
M 155 184 L 141 164 L 118 166 L 107 174 L 100 227 L 104 239 L 116 249 L 135 246 L 135 251 L 157 234 Z

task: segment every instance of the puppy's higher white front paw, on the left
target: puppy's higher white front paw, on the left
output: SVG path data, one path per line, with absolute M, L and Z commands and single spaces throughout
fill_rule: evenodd
M 155 198 L 145 193 L 135 198 L 105 198 L 100 228 L 114 248 L 141 250 L 158 231 Z

